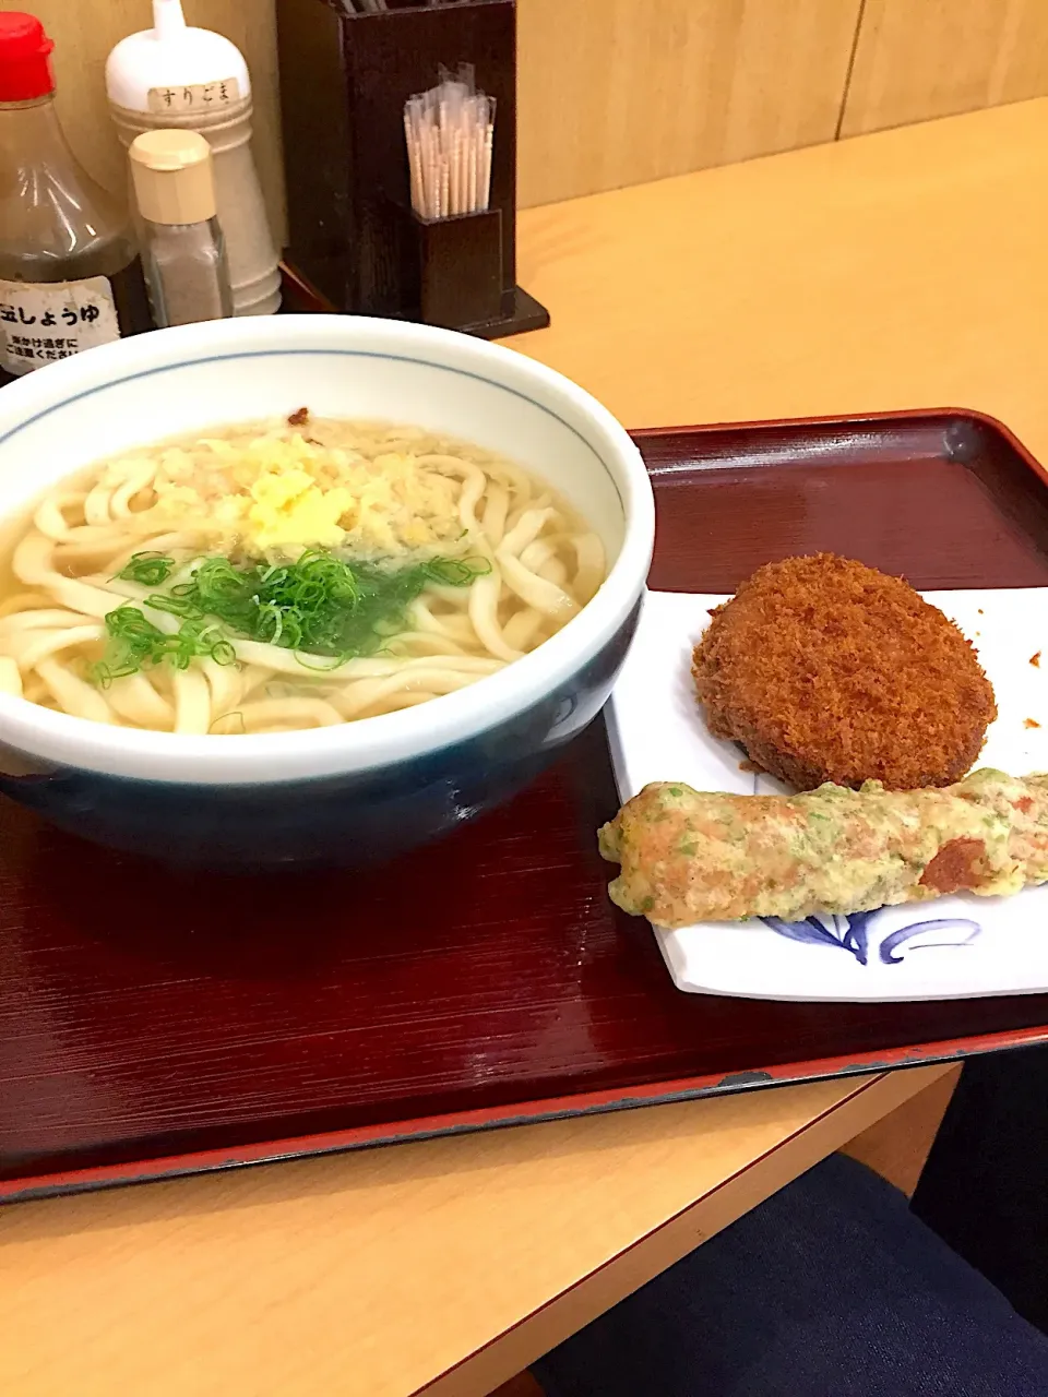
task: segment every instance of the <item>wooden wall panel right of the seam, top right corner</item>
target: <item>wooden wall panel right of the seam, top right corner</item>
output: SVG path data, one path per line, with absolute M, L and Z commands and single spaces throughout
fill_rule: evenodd
M 1048 0 L 866 0 L 841 136 L 1048 94 Z

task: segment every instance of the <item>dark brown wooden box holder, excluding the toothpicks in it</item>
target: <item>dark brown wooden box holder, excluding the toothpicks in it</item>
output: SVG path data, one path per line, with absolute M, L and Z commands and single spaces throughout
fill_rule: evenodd
M 291 278 L 327 309 L 489 339 L 548 326 L 517 286 L 514 0 L 381 14 L 277 0 L 277 20 Z M 490 207 L 428 221 L 411 208 L 404 103 L 460 61 L 496 101 Z

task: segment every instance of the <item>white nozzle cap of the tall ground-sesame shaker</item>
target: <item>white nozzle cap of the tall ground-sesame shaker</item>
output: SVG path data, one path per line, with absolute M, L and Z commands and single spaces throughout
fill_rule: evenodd
M 235 43 L 211 29 L 186 24 L 182 0 L 152 0 L 152 29 L 130 34 L 106 59 L 106 92 L 115 106 L 150 112 L 158 88 L 205 87 L 236 80 L 238 94 L 252 91 L 245 57 Z

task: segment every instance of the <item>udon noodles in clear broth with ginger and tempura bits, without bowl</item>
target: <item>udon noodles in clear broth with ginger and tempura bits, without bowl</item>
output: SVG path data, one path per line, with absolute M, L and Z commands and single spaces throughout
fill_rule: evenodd
M 408 566 L 428 571 L 369 644 L 319 654 L 289 641 L 295 608 L 271 606 L 264 640 L 211 613 L 187 629 L 189 604 L 179 610 L 172 598 L 196 597 L 201 564 L 215 557 L 267 580 L 317 557 L 370 569 L 380 587 Z M 435 560 L 457 569 L 453 583 Z M 510 461 L 421 429 L 313 420 L 303 409 L 129 453 L 60 483 L 22 527 L 6 571 L 1 692 L 96 722 L 233 735 L 386 714 L 492 675 L 585 605 L 605 557 L 556 492 Z M 162 637 L 130 666 L 106 662 L 117 610 Z M 184 636 L 197 650 L 179 659 Z

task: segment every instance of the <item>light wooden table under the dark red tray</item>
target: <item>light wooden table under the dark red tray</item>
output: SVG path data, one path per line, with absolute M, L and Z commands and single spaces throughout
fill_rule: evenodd
M 518 348 L 630 426 L 953 404 L 1048 458 L 1045 226 L 1048 101 L 534 210 Z M 13 1207 L 0 1390 L 485 1393 L 943 1071 Z

